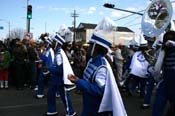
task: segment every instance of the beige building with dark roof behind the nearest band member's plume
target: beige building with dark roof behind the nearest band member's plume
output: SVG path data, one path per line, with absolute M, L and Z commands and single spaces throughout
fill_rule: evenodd
M 76 42 L 87 43 L 91 38 L 97 24 L 80 23 L 76 28 Z M 132 40 L 134 32 L 127 27 L 116 27 L 116 30 L 107 35 L 114 45 L 123 44 Z

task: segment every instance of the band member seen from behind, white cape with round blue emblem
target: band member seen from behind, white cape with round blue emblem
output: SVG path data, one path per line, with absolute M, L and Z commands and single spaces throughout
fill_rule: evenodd
M 145 40 L 142 34 L 138 36 L 138 50 L 133 54 L 130 64 L 129 78 L 133 78 L 133 82 L 129 93 L 134 92 L 136 86 L 140 84 L 140 97 L 145 95 L 146 81 L 148 78 L 148 66 L 149 62 L 146 59 L 144 53 L 147 50 L 148 42 Z M 131 94 L 130 93 L 130 94 Z

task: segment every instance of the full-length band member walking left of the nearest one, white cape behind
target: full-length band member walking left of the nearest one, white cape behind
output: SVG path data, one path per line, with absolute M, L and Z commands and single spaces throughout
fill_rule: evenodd
M 71 103 L 69 93 L 65 89 L 65 84 L 73 84 L 67 79 L 69 73 L 73 74 L 72 68 L 69 64 L 68 58 L 62 50 L 61 46 L 65 43 L 65 40 L 60 35 L 55 35 L 54 38 L 55 45 L 55 57 L 54 64 L 49 66 L 49 71 L 51 73 L 50 86 L 47 93 L 47 104 L 48 111 L 46 116 L 56 116 L 58 114 L 56 110 L 56 98 L 55 94 L 59 91 L 61 100 L 66 109 L 66 116 L 75 116 L 76 112 Z

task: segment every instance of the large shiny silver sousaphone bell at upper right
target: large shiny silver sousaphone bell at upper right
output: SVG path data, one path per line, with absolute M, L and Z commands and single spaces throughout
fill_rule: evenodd
M 141 28 L 144 35 L 153 38 L 163 33 L 170 24 L 172 13 L 169 0 L 153 0 L 142 17 Z

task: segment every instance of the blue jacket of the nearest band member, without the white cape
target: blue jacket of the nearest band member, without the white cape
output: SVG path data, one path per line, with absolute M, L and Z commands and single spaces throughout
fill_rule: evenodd
M 84 71 L 83 79 L 77 82 L 77 88 L 83 90 L 83 112 L 97 112 L 103 97 L 107 78 L 105 58 L 101 55 L 91 58 Z

